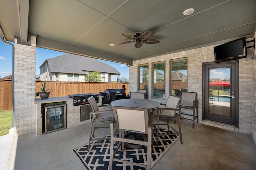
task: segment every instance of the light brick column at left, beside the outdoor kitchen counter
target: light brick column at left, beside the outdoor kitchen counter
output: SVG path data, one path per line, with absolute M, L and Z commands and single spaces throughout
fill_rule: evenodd
M 31 36 L 30 46 L 18 44 L 16 38 L 14 41 L 15 128 L 17 135 L 23 135 L 36 132 L 36 37 Z

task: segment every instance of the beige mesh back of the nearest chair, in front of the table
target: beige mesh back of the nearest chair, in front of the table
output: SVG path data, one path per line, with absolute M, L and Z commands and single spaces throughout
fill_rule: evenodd
M 112 106 L 116 130 L 133 131 L 147 134 L 148 109 Z

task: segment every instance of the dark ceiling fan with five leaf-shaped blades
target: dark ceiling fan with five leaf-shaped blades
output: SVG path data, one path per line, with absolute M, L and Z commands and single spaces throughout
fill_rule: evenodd
M 150 37 L 152 37 L 155 33 L 156 33 L 155 31 L 146 31 L 144 33 L 136 32 L 134 36 L 126 34 L 126 33 L 121 33 L 121 35 L 123 35 L 124 37 L 133 39 L 133 41 L 126 41 L 123 43 L 119 43 L 119 45 L 136 42 L 134 46 L 136 48 L 140 48 L 142 46 L 142 42 L 146 43 L 146 44 L 160 43 L 160 41 L 158 41 L 156 39 L 150 39 Z

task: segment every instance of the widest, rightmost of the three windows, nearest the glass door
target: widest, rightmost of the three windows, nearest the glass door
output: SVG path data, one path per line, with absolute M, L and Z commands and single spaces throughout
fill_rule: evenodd
M 188 60 L 178 59 L 170 61 L 171 65 L 171 95 L 180 96 L 188 91 Z

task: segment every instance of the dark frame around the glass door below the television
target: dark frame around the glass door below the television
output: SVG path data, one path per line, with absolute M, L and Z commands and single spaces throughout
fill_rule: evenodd
M 231 91 L 235 91 L 235 106 L 231 106 L 233 107 L 232 108 L 232 111 L 235 112 L 235 125 L 236 127 L 238 127 L 238 118 L 239 118 L 239 114 L 238 114 L 238 105 L 239 105 L 239 61 L 229 61 L 229 62 L 223 62 L 223 63 L 215 63 L 215 62 L 209 62 L 209 63 L 203 63 L 203 68 L 202 68 L 202 120 L 205 119 L 205 114 L 206 114 L 206 104 L 208 104 L 207 102 L 209 102 L 209 98 L 208 98 L 208 89 L 206 89 L 206 81 L 205 80 L 205 77 L 206 77 L 206 66 L 207 65 L 210 65 L 210 64 L 216 64 L 216 67 L 221 67 L 221 65 L 224 65 L 224 64 L 235 64 L 236 66 L 236 70 L 232 70 L 232 74 L 231 74 L 231 77 L 230 78 L 235 78 L 235 83 L 236 83 L 236 87 L 235 89 L 230 89 L 230 96 L 232 95 L 231 94 Z M 207 94 L 206 94 L 207 93 Z M 231 100 L 231 98 L 230 98 Z M 230 108 L 231 109 L 231 108 Z

